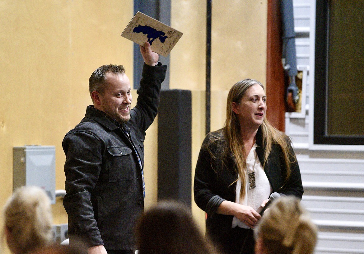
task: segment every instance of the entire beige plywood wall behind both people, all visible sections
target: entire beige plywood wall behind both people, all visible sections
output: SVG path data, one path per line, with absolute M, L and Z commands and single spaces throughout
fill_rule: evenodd
M 122 5 L 120 4 L 122 3 Z M 230 87 L 246 77 L 265 83 L 267 1 L 213 1 L 211 130 L 223 126 Z M 132 79 L 132 43 L 120 36 L 132 0 L 0 2 L 0 208 L 12 193 L 12 148 L 55 145 L 56 189 L 64 188 L 62 139 L 82 119 L 88 78 L 107 63 Z M 192 170 L 205 136 L 206 3 L 171 0 L 171 26 L 183 32 L 170 54 L 170 88 L 192 90 Z M 139 81 L 138 81 L 139 82 Z M 132 91 L 133 104 L 136 93 Z M 145 207 L 157 202 L 157 120 L 145 141 Z M 192 176 L 193 177 L 193 176 Z M 193 213 L 204 227 L 204 212 Z M 55 223 L 67 222 L 62 200 Z

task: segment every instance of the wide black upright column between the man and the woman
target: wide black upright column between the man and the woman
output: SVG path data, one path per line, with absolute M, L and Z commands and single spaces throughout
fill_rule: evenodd
M 191 207 L 191 91 L 161 91 L 158 110 L 158 200 Z

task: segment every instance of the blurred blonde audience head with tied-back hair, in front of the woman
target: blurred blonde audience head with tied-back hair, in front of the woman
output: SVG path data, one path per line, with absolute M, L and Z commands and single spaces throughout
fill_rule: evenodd
M 275 200 L 254 230 L 256 254 L 312 254 L 317 227 L 300 200 L 286 196 Z

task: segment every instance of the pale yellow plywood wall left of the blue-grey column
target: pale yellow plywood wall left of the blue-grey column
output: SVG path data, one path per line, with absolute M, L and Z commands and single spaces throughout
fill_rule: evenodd
M 64 135 L 91 104 L 88 78 L 108 63 L 132 77 L 132 43 L 120 36 L 133 1 L 5 0 L 0 3 L 0 207 L 12 194 L 12 149 L 56 147 L 56 189 L 64 189 Z M 67 222 L 62 200 L 55 223 Z

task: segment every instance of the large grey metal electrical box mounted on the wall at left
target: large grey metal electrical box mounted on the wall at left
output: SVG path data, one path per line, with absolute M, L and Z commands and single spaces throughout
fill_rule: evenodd
M 55 146 L 25 145 L 13 148 L 13 190 L 34 185 L 46 191 L 56 203 Z

